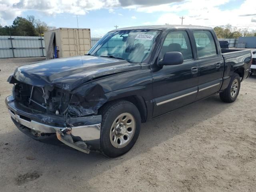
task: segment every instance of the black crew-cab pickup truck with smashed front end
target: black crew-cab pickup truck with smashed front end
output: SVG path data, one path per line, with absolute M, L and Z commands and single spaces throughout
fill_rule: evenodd
M 222 52 L 212 28 L 122 28 L 87 55 L 18 67 L 6 106 L 35 140 L 116 157 L 135 144 L 142 122 L 213 94 L 234 102 L 251 62 L 250 50 Z

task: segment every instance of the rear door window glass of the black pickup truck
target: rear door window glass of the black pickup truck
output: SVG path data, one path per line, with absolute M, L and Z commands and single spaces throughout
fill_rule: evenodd
M 217 55 L 214 38 L 210 31 L 194 31 L 198 57 L 209 57 Z

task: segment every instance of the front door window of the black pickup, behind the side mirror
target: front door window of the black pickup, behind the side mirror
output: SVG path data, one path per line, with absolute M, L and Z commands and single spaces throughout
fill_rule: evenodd
M 184 60 L 192 59 L 192 50 L 186 31 L 172 31 L 167 34 L 161 48 L 159 58 L 163 59 L 166 52 L 181 52 Z

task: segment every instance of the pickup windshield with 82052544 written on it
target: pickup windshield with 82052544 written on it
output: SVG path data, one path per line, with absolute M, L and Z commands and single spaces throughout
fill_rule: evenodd
M 107 33 L 88 52 L 94 56 L 105 56 L 146 62 L 160 34 L 158 30 L 121 30 Z

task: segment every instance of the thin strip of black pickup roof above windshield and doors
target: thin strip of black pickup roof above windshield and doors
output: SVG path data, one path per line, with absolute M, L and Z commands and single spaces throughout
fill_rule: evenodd
M 148 25 L 148 26 L 135 26 L 135 27 L 126 27 L 126 28 L 119 28 L 114 29 L 112 31 L 120 31 L 120 30 L 166 30 L 166 29 L 208 29 L 212 30 L 211 27 L 204 27 L 204 26 L 196 26 L 196 25 Z

